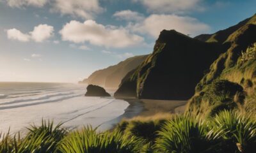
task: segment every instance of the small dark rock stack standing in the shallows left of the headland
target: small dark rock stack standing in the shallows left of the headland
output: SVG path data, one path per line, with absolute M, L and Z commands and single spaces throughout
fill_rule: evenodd
M 103 87 L 100 87 L 98 85 L 88 85 L 86 88 L 87 92 L 84 94 L 84 96 L 95 96 L 95 97 L 110 97 L 110 94 L 106 92 L 106 90 Z

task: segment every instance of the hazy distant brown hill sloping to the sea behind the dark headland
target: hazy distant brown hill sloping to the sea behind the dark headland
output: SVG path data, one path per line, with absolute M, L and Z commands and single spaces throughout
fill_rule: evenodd
M 79 82 L 79 84 L 100 85 L 106 88 L 118 88 L 122 78 L 143 62 L 148 55 L 138 55 L 125 59 L 114 66 L 95 71 L 90 77 Z

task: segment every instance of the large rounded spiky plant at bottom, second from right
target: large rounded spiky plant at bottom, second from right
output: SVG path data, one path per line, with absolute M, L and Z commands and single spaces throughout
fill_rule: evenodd
M 159 152 L 220 152 L 218 135 L 209 134 L 202 120 L 188 115 L 167 122 L 159 136 L 156 144 Z

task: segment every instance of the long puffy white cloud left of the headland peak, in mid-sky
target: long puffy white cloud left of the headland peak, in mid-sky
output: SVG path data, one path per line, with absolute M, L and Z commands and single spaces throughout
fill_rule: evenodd
M 124 27 L 104 26 L 94 20 L 86 20 L 84 23 L 72 20 L 63 26 L 60 34 L 65 41 L 88 41 L 92 45 L 115 48 L 129 47 L 143 41 L 141 36 L 129 33 Z

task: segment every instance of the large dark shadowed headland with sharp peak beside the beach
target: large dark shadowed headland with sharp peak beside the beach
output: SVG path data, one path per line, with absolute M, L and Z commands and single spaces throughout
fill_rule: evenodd
M 220 43 L 206 43 L 174 30 L 163 30 L 154 52 L 125 76 L 115 97 L 189 99 L 204 71 L 226 49 Z

